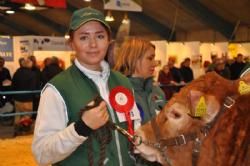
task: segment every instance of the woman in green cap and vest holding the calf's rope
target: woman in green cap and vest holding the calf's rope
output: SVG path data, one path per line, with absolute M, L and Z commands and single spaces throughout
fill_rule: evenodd
M 39 165 L 132 166 L 132 144 L 116 130 L 105 128 L 108 121 L 127 128 L 124 115 L 112 109 L 109 92 L 117 86 L 132 90 L 129 80 L 111 71 L 103 60 L 110 27 L 100 11 L 87 7 L 73 13 L 69 35 L 76 59 L 42 90 L 32 143 L 36 161 Z M 95 106 L 97 96 L 103 101 Z M 131 111 L 134 122 L 140 121 L 135 104 Z M 107 142 L 102 144 L 103 140 Z

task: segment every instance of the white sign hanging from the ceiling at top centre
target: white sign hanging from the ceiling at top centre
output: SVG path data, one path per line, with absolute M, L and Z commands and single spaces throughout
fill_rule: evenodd
M 141 12 L 142 0 L 104 0 L 104 9 Z

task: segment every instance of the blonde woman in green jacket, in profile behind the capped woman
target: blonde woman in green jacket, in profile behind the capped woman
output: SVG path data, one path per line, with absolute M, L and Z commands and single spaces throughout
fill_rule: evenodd
M 134 37 L 121 45 L 114 69 L 125 74 L 132 83 L 142 124 L 153 118 L 166 103 L 164 92 L 153 82 L 156 66 L 155 46 L 149 41 Z M 137 165 L 158 165 L 139 156 L 136 159 Z

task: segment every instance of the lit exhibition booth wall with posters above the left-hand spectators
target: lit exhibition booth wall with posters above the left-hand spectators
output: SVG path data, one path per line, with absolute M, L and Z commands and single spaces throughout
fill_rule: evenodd
M 34 55 L 37 64 L 43 68 L 43 60 L 57 57 L 67 68 L 71 64 L 73 52 L 64 37 L 51 36 L 3 36 L 0 37 L 0 55 L 5 59 L 5 67 L 11 75 L 19 68 L 18 59 Z

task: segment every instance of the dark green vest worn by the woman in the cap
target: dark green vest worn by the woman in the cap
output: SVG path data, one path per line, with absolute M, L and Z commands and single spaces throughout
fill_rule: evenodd
M 84 106 L 92 101 L 99 92 L 92 80 L 88 79 L 75 65 L 72 65 L 64 72 L 53 78 L 50 83 L 56 87 L 63 97 L 67 106 L 68 113 L 68 125 L 72 122 L 79 120 L 79 111 Z M 131 89 L 129 80 L 122 74 L 111 71 L 108 79 L 109 89 L 116 86 L 122 85 L 126 88 Z M 111 116 L 111 115 L 110 115 Z M 126 122 L 120 123 L 118 117 L 115 114 L 116 124 L 122 128 L 127 129 Z M 118 134 L 122 163 L 123 166 L 132 166 L 134 161 L 129 156 L 129 149 L 131 144 L 121 134 Z M 97 140 L 92 137 L 93 147 L 92 153 L 94 154 L 94 165 L 97 165 L 100 154 L 100 146 Z M 88 147 L 87 141 L 83 142 L 70 156 L 63 161 L 60 161 L 54 165 L 58 166 L 88 166 Z M 115 132 L 112 131 L 112 141 L 106 145 L 106 158 L 108 159 L 106 165 L 108 166 L 119 166 L 118 149 L 116 145 Z

